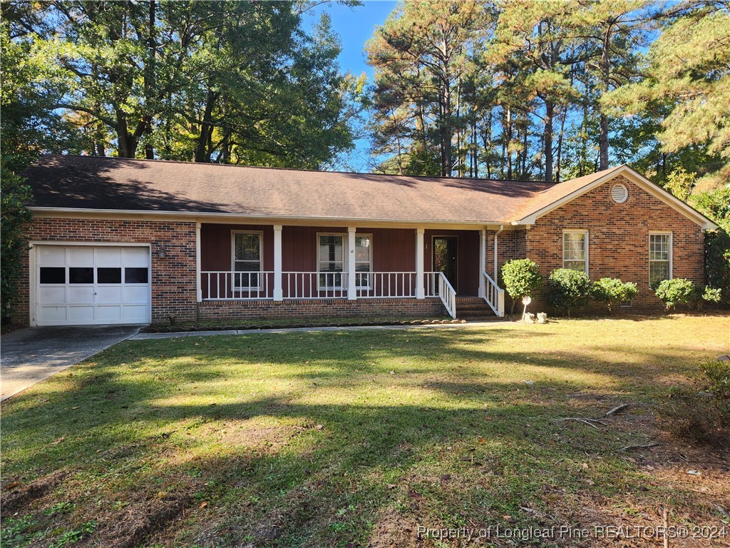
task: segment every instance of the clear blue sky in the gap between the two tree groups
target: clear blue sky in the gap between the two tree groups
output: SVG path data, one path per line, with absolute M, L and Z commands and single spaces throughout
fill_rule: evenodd
M 337 32 L 342 42 L 342 52 L 339 54 L 339 65 L 342 72 L 350 71 L 353 75 L 365 72 L 372 80 L 372 69 L 365 62 L 365 42 L 367 42 L 376 26 L 385 23 L 396 1 L 366 0 L 358 7 L 346 7 L 339 4 L 325 4 L 307 14 L 307 23 L 313 24 L 319 20 L 320 14 L 329 14 L 332 29 Z M 368 143 L 358 141 L 356 150 L 347 157 L 347 167 L 358 172 L 368 172 Z

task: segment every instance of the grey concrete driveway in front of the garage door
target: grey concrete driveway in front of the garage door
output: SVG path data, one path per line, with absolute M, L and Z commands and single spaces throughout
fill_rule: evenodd
M 28 327 L 0 338 L 0 400 L 137 335 L 139 325 Z

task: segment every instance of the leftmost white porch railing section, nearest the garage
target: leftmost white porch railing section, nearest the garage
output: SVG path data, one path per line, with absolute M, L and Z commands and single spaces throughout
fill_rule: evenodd
M 272 298 L 273 272 L 201 272 L 204 300 L 253 300 Z

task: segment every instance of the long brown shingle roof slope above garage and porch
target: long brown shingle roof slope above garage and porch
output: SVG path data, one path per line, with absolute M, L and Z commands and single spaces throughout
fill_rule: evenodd
M 42 156 L 23 176 L 37 208 L 453 223 L 509 221 L 550 187 L 60 155 Z

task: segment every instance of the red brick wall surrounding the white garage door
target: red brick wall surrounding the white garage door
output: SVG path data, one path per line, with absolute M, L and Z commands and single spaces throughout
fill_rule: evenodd
M 109 221 L 104 219 L 34 218 L 28 240 L 64 242 L 119 242 L 152 244 L 152 319 L 192 320 L 196 315 L 195 223 L 166 221 Z M 166 248 L 164 259 L 157 256 Z M 28 254 L 18 283 L 13 321 L 28 324 L 30 291 Z

